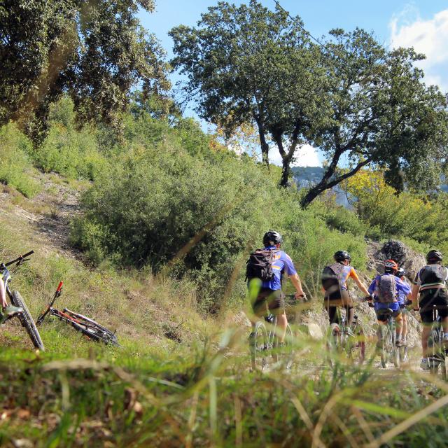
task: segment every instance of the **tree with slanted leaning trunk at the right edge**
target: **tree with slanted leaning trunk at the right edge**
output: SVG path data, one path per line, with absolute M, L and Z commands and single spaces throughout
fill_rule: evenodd
M 447 160 L 447 103 L 414 67 L 424 56 L 403 48 L 387 52 L 362 29 L 331 34 L 334 40 L 324 49 L 331 85 L 313 138 L 328 167 L 302 205 L 367 165 L 386 168 L 395 188 L 402 188 L 400 173 L 415 187 L 440 183 Z M 349 169 L 339 169 L 347 159 Z

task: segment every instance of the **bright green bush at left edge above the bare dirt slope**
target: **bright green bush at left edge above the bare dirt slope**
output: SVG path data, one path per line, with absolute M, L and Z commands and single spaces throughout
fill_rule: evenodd
M 41 189 L 32 177 L 29 161 L 31 142 L 15 125 L 0 128 L 0 182 L 13 186 L 22 195 L 33 197 Z

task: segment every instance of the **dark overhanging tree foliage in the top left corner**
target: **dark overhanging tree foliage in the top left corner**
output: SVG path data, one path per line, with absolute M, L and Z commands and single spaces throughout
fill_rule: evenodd
M 81 123 L 118 127 L 118 111 L 141 82 L 144 92 L 169 84 L 163 51 L 141 27 L 139 7 L 152 0 L 7 0 L 0 10 L 0 124 L 14 120 L 40 143 L 48 108 L 62 92 Z

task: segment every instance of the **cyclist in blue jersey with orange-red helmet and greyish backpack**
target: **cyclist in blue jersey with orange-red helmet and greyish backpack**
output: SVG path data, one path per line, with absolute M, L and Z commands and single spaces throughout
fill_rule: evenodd
M 404 294 L 410 296 L 411 287 L 395 276 L 398 271 L 398 265 L 394 260 L 386 260 L 384 262 L 384 274 L 377 275 L 369 286 L 369 293 L 374 295 L 374 310 L 377 314 L 379 325 L 385 325 L 387 322 L 386 309 L 393 311 L 392 317 L 396 323 L 396 339 L 397 346 L 402 345 L 402 312 L 398 302 L 398 295 Z M 378 332 L 378 338 L 381 333 Z M 378 341 L 380 342 L 380 341 Z

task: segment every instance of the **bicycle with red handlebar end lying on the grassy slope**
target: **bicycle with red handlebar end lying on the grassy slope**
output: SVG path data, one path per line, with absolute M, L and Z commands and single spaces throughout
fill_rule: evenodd
M 118 344 L 118 339 L 116 337 L 115 332 L 111 332 L 102 325 L 99 325 L 96 321 L 82 314 L 75 313 L 67 308 L 64 308 L 63 311 L 59 311 L 59 309 L 53 308 L 53 304 L 57 300 L 57 297 L 60 297 L 62 292 L 62 281 L 59 282 L 57 286 L 57 290 L 55 291 L 55 295 L 53 295 L 52 300 L 47 306 L 47 309 L 42 312 L 42 314 L 38 317 L 36 323 L 37 325 L 41 325 L 45 316 L 50 314 L 50 316 L 55 316 L 59 318 L 61 321 L 64 321 L 71 325 L 75 330 L 82 332 L 83 335 L 86 335 L 89 339 L 93 341 L 101 341 L 104 344 L 112 344 L 115 346 L 120 346 Z

